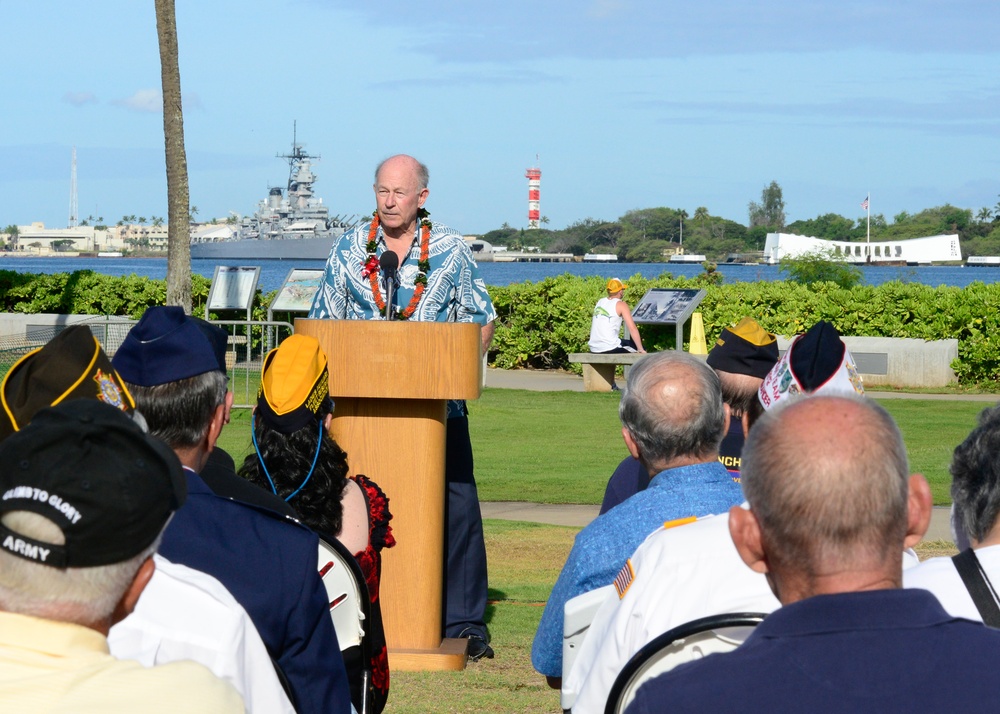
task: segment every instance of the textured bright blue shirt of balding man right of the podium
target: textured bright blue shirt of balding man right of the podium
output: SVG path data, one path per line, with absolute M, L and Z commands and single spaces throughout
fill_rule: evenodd
M 661 471 L 649 487 L 580 531 L 545 605 L 531 664 L 562 676 L 563 608 L 568 600 L 611 584 L 635 549 L 665 521 L 722 513 L 743 502 L 740 485 L 718 461 Z

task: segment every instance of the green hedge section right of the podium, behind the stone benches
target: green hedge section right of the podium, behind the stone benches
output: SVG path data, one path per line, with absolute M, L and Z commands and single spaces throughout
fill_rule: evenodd
M 626 282 L 625 299 L 633 306 L 653 287 L 707 288 L 699 311 L 709 345 L 746 315 L 779 335 L 801 333 L 823 319 L 843 335 L 957 339 L 952 368 L 962 385 L 992 389 L 1000 380 L 1000 285 L 995 283 L 955 288 L 890 282 L 842 289 L 833 283 L 716 285 L 704 276 L 670 275 L 635 275 Z M 490 294 L 498 311 L 491 363 L 507 369 L 579 369 L 567 355 L 587 350 L 591 311 L 605 294 L 602 278 L 563 275 L 491 287 Z M 674 347 L 672 327 L 640 330 L 650 351 Z

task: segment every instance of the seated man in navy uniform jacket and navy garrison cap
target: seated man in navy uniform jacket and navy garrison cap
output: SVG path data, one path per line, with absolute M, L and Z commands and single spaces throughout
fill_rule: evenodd
M 269 509 L 221 498 L 198 476 L 225 423 L 227 378 L 211 341 L 181 308 L 153 307 L 112 363 L 150 433 L 184 465 L 188 500 L 164 534 L 163 554 L 218 578 L 246 608 L 300 714 L 346 714 L 350 692 L 316 569 L 316 534 Z

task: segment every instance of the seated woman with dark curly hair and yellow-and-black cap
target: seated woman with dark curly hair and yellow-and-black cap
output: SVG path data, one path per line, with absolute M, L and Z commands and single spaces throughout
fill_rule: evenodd
M 347 454 L 330 436 L 333 401 L 327 359 L 315 337 L 292 335 L 264 360 L 252 437 L 254 453 L 240 476 L 280 496 L 302 522 L 329 540 L 339 540 L 361 566 L 372 620 L 374 712 L 389 694 L 389 662 L 379 606 L 383 548 L 396 544 L 389 499 L 364 475 L 348 477 Z M 345 661 L 352 700 L 361 709 L 360 663 Z

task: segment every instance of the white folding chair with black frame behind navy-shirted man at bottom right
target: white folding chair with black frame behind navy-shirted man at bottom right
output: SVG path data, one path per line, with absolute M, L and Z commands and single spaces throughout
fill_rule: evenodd
M 650 640 L 632 655 L 618 673 L 608 694 L 604 714 L 623 714 L 635 699 L 640 685 L 679 664 L 736 649 L 764 617 L 765 613 L 761 612 L 702 617 Z

